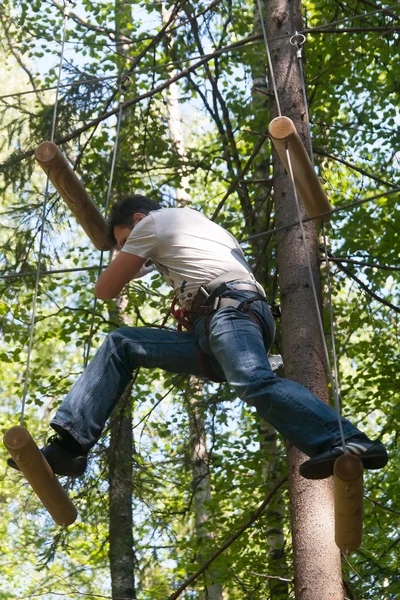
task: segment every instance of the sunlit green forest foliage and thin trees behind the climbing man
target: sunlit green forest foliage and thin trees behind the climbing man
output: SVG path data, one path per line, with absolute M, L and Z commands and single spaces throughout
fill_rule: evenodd
M 21 411 L 45 189 L 33 152 L 51 135 L 55 91 L 42 90 L 57 83 L 63 9 L 57 0 L 0 7 L 2 430 Z M 394 600 L 400 5 L 321 0 L 304 2 L 302 16 L 318 174 L 334 208 L 365 200 L 327 225 L 343 413 L 382 439 L 391 456 L 385 470 L 365 477 L 364 539 L 343 557 L 345 597 Z M 295 33 L 283 24 L 274 47 Z M 164 206 L 201 210 L 240 240 L 270 303 L 279 304 L 266 137 L 272 90 L 258 5 L 82 0 L 71 5 L 66 35 L 55 141 L 100 209 L 116 141 L 118 76 L 126 73 L 112 199 L 141 192 Z M 50 188 L 25 411 L 39 444 L 87 353 L 109 331 L 121 323 L 176 326 L 158 275 L 133 282 L 121 301 L 94 305 L 99 254 Z M 329 340 L 328 308 L 324 279 Z M 282 352 L 277 326 L 273 351 Z M 69 484 L 80 517 L 68 530 L 57 529 L 6 469 L 1 450 L 0 598 L 172 598 L 241 527 L 180 597 L 293 598 L 289 501 L 286 484 L 276 486 L 287 472 L 284 440 L 226 386 L 172 374 L 136 372 L 123 408 L 88 475 Z

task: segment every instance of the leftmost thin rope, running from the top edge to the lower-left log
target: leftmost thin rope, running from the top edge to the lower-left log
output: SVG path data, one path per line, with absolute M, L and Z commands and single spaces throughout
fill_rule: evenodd
M 51 125 L 51 141 L 54 141 L 55 130 L 56 130 L 58 97 L 59 97 L 59 90 L 60 90 L 60 83 L 61 83 L 62 66 L 63 66 L 63 60 L 64 60 L 65 39 L 67 36 L 69 10 L 70 10 L 69 0 L 64 0 L 63 34 L 62 34 L 62 44 L 61 44 L 61 50 L 60 50 L 60 61 L 59 61 L 59 68 L 58 68 L 56 97 L 55 97 L 54 109 L 53 109 L 53 120 L 52 120 L 52 125 Z M 27 397 L 27 393 L 28 393 L 28 381 L 29 381 L 30 363 L 31 363 L 31 355 L 32 355 L 32 347 L 33 347 L 33 334 L 34 334 L 34 330 L 35 330 L 36 305 L 37 305 L 37 297 L 38 297 L 38 290 L 39 290 L 39 279 L 40 279 L 41 260 L 42 260 L 42 252 L 43 252 L 44 227 L 45 227 L 45 222 L 46 222 L 47 200 L 48 200 L 48 196 L 49 196 L 49 183 L 50 183 L 50 178 L 49 178 L 49 173 L 48 173 L 47 179 L 46 179 L 45 191 L 44 191 L 42 214 L 41 214 L 39 251 L 38 251 L 38 260 L 37 260 L 35 289 L 34 289 L 33 301 L 32 301 L 31 322 L 30 322 L 30 327 L 29 327 L 28 356 L 27 356 L 26 369 L 25 369 L 24 390 L 22 393 L 20 425 L 24 424 L 26 397 Z

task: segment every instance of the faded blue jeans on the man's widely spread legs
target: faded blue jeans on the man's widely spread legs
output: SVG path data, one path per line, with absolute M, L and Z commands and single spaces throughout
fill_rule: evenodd
M 245 300 L 251 292 L 228 291 L 224 296 Z M 204 376 L 198 346 L 213 370 L 225 377 L 239 398 L 308 456 L 340 444 L 336 411 L 302 385 L 277 377 L 267 358 L 274 320 L 264 301 L 251 304 L 262 329 L 246 313 L 232 307 L 213 313 L 209 335 L 204 317 L 193 333 L 146 327 L 121 327 L 108 335 L 93 360 L 59 407 L 51 425 L 62 427 L 89 450 L 137 367 Z M 342 417 L 346 439 L 365 437 Z

